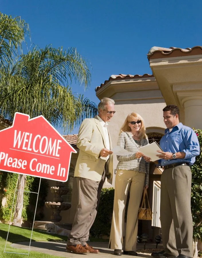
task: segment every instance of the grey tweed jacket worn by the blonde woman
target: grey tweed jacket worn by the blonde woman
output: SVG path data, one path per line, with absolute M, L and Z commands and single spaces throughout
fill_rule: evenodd
M 141 146 L 147 145 L 147 139 L 141 139 Z M 119 161 L 117 165 L 118 169 L 123 170 L 134 170 L 137 172 L 145 173 L 145 185 L 149 185 L 149 163 L 146 162 L 143 158 L 137 159 L 135 157 L 136 152 L 138 151 L 138 143 L 133 139 L 130 132 L 121 132 L 118 138 L 118 146 L 124 148 L 131 152 L 127 155 L 117 155 Z

